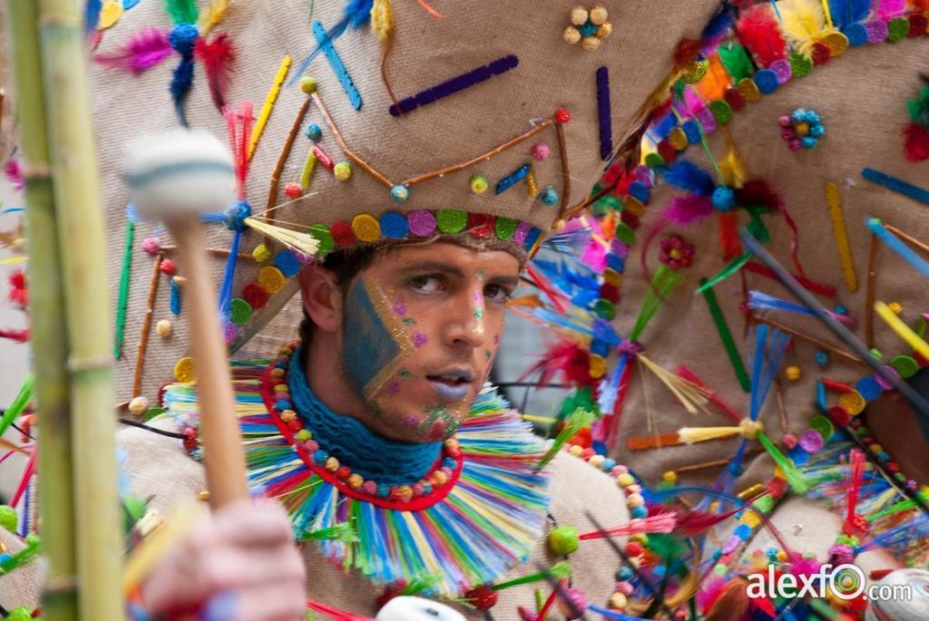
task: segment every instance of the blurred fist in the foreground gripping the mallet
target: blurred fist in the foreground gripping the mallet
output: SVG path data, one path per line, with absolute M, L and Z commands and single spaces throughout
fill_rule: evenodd
M 151 615 L 294 621 L 306 615 L 306 570 L 276 503 L 237 502 L 200 521 L 142 583 Z M 222 610 L 216 610 L 216 608 Z

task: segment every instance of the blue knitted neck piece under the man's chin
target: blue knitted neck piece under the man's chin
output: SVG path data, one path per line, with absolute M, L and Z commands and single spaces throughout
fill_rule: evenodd
M 336 414 L 310 390 L 301 359 L 300 351 L 294 352 L 287 382 L 294 409 L 321 449 L 366 481 L 379 484 L 412 485 L 433 469 L 441 454 L 441 442 L 388 440 L 359 420 Z

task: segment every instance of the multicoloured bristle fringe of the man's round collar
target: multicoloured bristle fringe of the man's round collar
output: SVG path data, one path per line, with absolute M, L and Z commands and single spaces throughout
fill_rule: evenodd
M 399 511 L 349 498 L 307 467 L 265 408 L 267 365 L 232 362 L 237 414 L 249 484 L 281 501 L 296 538 L 351 524 L 357 541 L 318 542 L 327 559 L 384 584 L 440 575 L 430 594 L 445 597 L 491 583 L 529 557 L 548 510 L 549 477 L 535 470 L 544 445 L 490 384 L 458 431 L 464 468 L 449 495 L 421 511 Z M 168 386 L 164 407 L 182 429 L 198 425 L 193 385 Z

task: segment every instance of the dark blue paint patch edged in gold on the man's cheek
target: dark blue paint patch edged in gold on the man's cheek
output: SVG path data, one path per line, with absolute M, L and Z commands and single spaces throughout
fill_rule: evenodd
M 348 380 L 368 399 L 412 353 L 410 337 L 377 285 L 356 278 L 345 305 L 343 362 Z

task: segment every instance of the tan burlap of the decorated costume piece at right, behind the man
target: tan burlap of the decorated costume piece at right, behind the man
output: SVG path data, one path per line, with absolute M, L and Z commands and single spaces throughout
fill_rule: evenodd
M 855 330 L 864 339 L 865 279 L 868 267 L 870 233 L 864 224 L 866 216 L 882 218 L 887 224 L 895 225 L 919 239 L 929 239 L 929 221 L 925 218 L 925 205 L 911 201 L 883 187 L 866 181 L 861 176 L 865 167 L 875 168 L 888 175 L 896 175 L 916 185 L 925 186 L 927 164 L 909 163 L 903 156 L 901 128 L 908 122 L 906 101 L 915 97 L 922 82 L 920 71 L 926 49 L 925 39 L 907 39 L 898 43 L 883 43 L 859 48 L 850 48 L 843 56 L 833 58 L 824 67 L 817 67 L 804 78 L 792 81 L 757 103 L 749 103 L 737 112 L 728 128 L 733 136 L 750 178 L 763 178 L 783 198 L 800 228 L 800 260 L 809 278 L 831 284 L 838 290 L 835 300 L 820 296 L 827 307 L 844 304 L 858 318 Z M 780 137 L 778 117 L 792 110 L 804 108 L 817 110 L 826 127 L 826 136 L 816 149 L 791 151 Z M 710 138 L 716 159 L 726 154 L 726 142 L 721 130 Z M 687 159 L 700 163 L 712 171 L 699 146 L 686 151 Z M 849 292 L 844 285 L 843 273 L 832 237 L 832 224 L 825 198 L 828 181 L 840 188 L 846 226 L 851 241 L 852 253 L 859 288 Z M 664 207 L 674 193 L 666 185 L 653 192 L 648 206 L 648 215 L 640 229 L 635 246 L 627 261 L 627 272 L 622 283 L 622 303 L 617 323 L 622 334 L 627 334 L 635 321 L 635 314 L 647 291 L 648 285 L 641 276 L 638 252 L 641 239 L 648 226 L 656 221 L 658 211 Z M 743 222 L 746 216 L 742 216 Z M 765 219 L 773 240 L 770 250 L 793 271 L 790 262 L 790 231 L 779 216 Z M 641 342 L 647 355 L 665 369 L 674 369 L 679 364 L 687 365 L 701 380 L 708 383 L 726 401 L 743 414 L 748 414 L 749 395 L 739 388 L 730 366 L 707 305 L 700 295 L 692 293 L 699 286 L 700 277 L 711 277 L 724 265 L 719 251 L 719 230 L 716 216 L 700 226 L 677 229 L 697 247 L 694 267 L 677 291 L 669 298 L 658 316 L 655 317 Z M 652 269 L 659 265 L 657 244 L 650 252 Z M 635 257 L 635 258 L 633 258 Z M 875 297 L 886 302 L 903 305 L 902 318 L 914 325 L 924 310 L 925 283 L 915 270 L 905 265 L 887 249 L 878 251 L 877 285 Z M 780 298 L 792 300 L 791 294 L 778 281 L 748 274 L 750 289 L 766 291 Z M 717 297 L 726 314 L 743 359 L 752 356 L 754 334 L 742 339 L 743 315 L 739 312 L 742 302 L 739 277 L 734 276 L 715 288 Z M 837 339 L 820 326 L 812 317 L 776 314 L 770 317 L 786 323 L 805 333 L 831 343 Z M 884 328 L 883 322 L 875 317 L 875 346 L 883 352 L 885 359 L 907 353 L 906 347 L 896 336 Z M 847 349 L 843 346 L 844 349 Z M 798 437 L 808 429 L 807 421 L 815 414 L 814 381 L 824 376 L 840 382 L 854 383 L 870 368 L 843 362 L 830 355 L 830 363 L 820 369 L 814 363 L 817 348 L 811 344 L 796 342 L 789 351 L 781 370 L 797 365 L 803 371 L 799 382 L 784 380 L 781 383 L 787 417 L 792 433 Z M 751 372 L 751 364 L 748 364 Z M 687 464 L 703 463 L 713 459 L 724 459 L 732 455 L 738 439 L 717 440 L 692 446 L 673 446 L 645 451 L 629 451 L 626 439 L 648 435 L 648 416 L 641 374 L 635 372 L 622 418 L 621 447 L 618 458 L 634 464 L 635 469 L 647 480 L 657 481 L 661 472 L 673 470 Z M 656 427 L 660 433 L 673 433 L 683 426 L 725 426 L 732 424 L 726 417 L 704 415 L 691 416 L 654 377 L 650 379 L 654 398 Z M 834 395 L 831 397 L 834 399 Z M 711 409 L 713 407 L 711 406 Z M 761 420 L 773 438 L 781 436 L 777 395 L 772 389 L 765 403 Z M 891 452 L 893 451 L 890 448 Z M 747 472 L 744 485 L 770 476 L 773 462 L 766 456 L 746 461 Z M 708 481 L 720 468 L 689 475 L 684 481 Z M 737 485 L 741 489 L 742 485 Z

